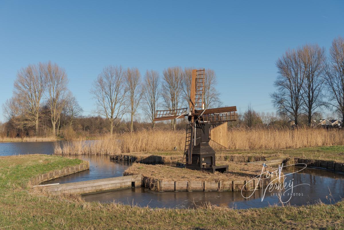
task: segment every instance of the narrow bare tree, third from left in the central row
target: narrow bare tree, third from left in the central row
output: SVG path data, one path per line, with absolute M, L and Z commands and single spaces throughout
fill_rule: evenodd
M 150 70 L 146 71 L 144 75 L 144 86 L 143 86 L 143 100 L 144 106 L 142 107 L 143 112 L 149 117 L 152 128 L 155 126 L 154 116 L 157 111 L 158 101 L 160 97 L 159 91 L 160 76 L 158 71 Z

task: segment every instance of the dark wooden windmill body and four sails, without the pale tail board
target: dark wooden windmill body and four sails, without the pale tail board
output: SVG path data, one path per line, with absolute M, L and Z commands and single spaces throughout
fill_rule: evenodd
M 204 108 L 205 70 L 192 70 L 189 108 L 158 110 L 154 121 L 180 119 L 187 116 L 183 163 L 189 169 L 224 172 L 228 165 L 216 166 L 215 151 L 209 146 L 210 124 L 236 121 L 236 106 Z M 190 110 L 189 110 L 190 109 Z

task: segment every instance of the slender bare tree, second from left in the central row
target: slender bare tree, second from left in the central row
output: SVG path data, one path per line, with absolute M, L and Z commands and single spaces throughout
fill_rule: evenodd
M 139 69 L 135 67 L 128 68 L 125 76 L 130 104 L 130 132 L 132 132 L 133 119 L 142 98 L 141 74 Z

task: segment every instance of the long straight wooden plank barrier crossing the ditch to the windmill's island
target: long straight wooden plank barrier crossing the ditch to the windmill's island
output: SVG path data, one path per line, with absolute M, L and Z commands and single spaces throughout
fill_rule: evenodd
M 141 175 L 112 177 L 98 180 L 86 180 L 73 183 L 65 183 L 60 185 L 49 185 L 36 187 L 37 189 L 45 189 L 53 195 L 62 193 L 73 194 L 92 194 L 97 192 L 105 192 L 116 189 L 125 189 L 131 187 L 141 187 Z

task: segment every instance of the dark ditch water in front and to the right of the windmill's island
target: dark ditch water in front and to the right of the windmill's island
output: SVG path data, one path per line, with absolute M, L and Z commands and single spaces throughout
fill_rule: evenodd
M 283 170 L 284 173 L 293 172 L 291 170 Z M 324 203 L 333 203 L 329 198 L 335 201 L 341 200 L 344 191 L 344 175 L 336 174 L 331 171 L 306 168 L 300 173 L 287 176 L 286 182 L 292 180 L 294 185 L 310 184 L 297 186 L 293 189 L 290 205 L 306 205 L 321 200 Z M 331 192 L 330 192 L 331 191 Z M 86 201 L 99 202 L 122 202 L 125 204 L 134 204 L 138 206 L 149 206 L 152 208 L 194 208 L 205 202 L 210 202 L 217 206 L 228 206 L 237 209 L 244 208 L 261 208 L 279 203 L 279 199 L 274 195 L 276 191 L 271 193 L 267 190 L 264 200 L 262 198 L 262 190 L 243 192 L 245 197 L 252 194 L 250 198 L 241 196 L 241 192 L 155 192 L 144 188 L 131 188 L 117 191 L 109 191 L 98 194 L 84 195 Z M 332 194 L 332 197 L 329 194 Z M 300 194 L 297 195 L 297 194 Z M 302 194 L 302 196 L 301 196 Z M 282 201 L 289 200 L 289 196 L 285 194 L 281 197 Z M 280 203 L 279 203 L 280 205 Z

